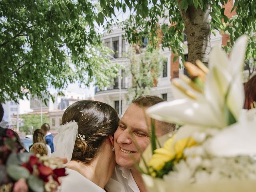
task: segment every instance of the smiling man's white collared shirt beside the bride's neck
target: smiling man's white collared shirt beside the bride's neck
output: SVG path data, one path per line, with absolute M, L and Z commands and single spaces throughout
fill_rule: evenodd
M 111 178 L 122 184 L 125 192 L 140 192 L 130 169 L 117 165 Z

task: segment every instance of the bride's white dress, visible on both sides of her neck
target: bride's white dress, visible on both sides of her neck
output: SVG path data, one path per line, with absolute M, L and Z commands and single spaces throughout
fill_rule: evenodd
M 58 192 L 105 192 L 104 189 L 94 184 L 75 170 L 66 169 L 65 177 L 60 177 L 61 185 Z M 105 186 L 108 192 L 124 192 L 123 186 L 116 180 L 110 179 Z

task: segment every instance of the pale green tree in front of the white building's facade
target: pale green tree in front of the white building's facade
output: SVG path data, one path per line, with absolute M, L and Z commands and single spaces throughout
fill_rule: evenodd
M 135 99 L 141 95 L 150 93 L 155 86 L 162 66 L 164 57 L 159 54 L 159 49 L 154 49 L 150 44 L 146 48 L 132 46 L 127 57 L 130 60 L 128 74 L 132 74 L 132 87 L 128 88 L 128 99 Z

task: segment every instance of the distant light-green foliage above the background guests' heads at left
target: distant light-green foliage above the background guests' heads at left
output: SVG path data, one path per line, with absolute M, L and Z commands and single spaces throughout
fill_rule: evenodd
M 30 132 L 31 126 L 34 127 L 34 130 L 41 128 L 41 114 L 24 114 L 20 115 L 20 118 L 24 119 L 24 126 L 20 127 L 20 131 L 24 131 L 26 134 L 33 134 Z M 43 114 L 43 123 L 50 123 L 47 114 Z

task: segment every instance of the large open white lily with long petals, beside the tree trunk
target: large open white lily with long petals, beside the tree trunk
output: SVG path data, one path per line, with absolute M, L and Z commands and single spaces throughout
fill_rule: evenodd
M 236 122 L 244 101 L 242 66 L 246 45 L 246 36 L 238 38 L 230 58 L 220 47 L 214 47 L 203 93 L 195 91 L 182 79 L 174 79 L 174 84 L 182 87 L 178 92 L 172 89 L 179 99 L 156 104 L 148 108 L 147 113 L 165 122 L 220 129 Z

